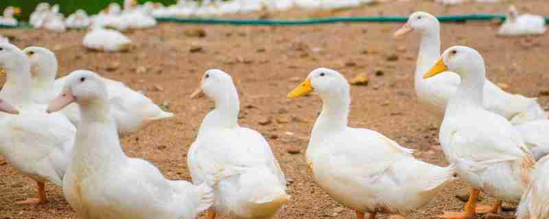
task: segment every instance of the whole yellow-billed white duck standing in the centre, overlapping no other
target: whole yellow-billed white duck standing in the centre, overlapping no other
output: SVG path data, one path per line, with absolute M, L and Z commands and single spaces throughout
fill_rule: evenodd
M 313 70 L 288 98 L 313 91 L 322 99 L 323 109 L 305 155 L 309 174 L 332 198 L 355 210 L 358 219 L 423 207 L 454 179 L 453 166 L 421 162 L 413 150 L 377 131 L 349 127 L 350 88 L 340 73 Z

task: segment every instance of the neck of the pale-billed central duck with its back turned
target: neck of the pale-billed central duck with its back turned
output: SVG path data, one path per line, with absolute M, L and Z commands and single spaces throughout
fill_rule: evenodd
M 199 135 L 203 129 L 233 129 L 238 126 L 240 102 L 234 86 L 229 92 L 222 92 L 215 98 L 213 109 L 202 121 Z

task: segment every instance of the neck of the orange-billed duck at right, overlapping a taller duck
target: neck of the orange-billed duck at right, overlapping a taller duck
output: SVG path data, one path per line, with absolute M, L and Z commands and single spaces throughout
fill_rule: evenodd
M 486 69 L 482 66 L 470 66 L 472 69 L 462 73 L 456 94 L 448 102 L 446 114 L 463 114 L 465 110 L 483 109 L 483 90 Z

